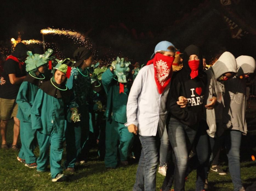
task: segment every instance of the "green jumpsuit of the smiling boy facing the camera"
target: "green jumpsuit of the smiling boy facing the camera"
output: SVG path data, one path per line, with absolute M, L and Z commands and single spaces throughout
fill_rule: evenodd
M 49 83 L 49 85 L 51 84 Z M 46 170 L 50 147 L 50 171 L 52 178 L 62 173 L 64 116 L 63 99 L 55 98 L 45 93 L 42 89 L 38 89 L 31 109 L 32 129 L 38 130 L 37 137 L 40 149 L 39 157 L 36 160 L 37 170 Z

